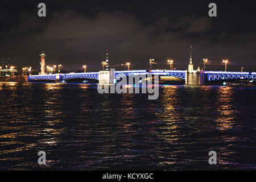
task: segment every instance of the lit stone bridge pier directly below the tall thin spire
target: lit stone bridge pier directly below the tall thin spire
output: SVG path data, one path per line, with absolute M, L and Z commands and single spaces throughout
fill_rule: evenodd
M 204 72 L 186 70 L 185 85 L 204 85 Z

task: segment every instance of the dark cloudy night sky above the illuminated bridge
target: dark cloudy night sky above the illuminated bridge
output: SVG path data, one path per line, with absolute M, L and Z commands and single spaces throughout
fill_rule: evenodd
M 47 16 L 39 18 L 38 4 Z M 217 17 L 208 16 L 210 2 Z M 77 71 L 101 69 L 109 50 L 110 67 L 129 60 L 131 69 L 187 69 L 189 45 L 194 67 L 202 59 L 208 69 L 256 71 L 255 1 L 10 1 L 0 2 L 0 57 L 19 67 L 39 68 L 41 51 L 47 65 L 62 64 Z M 118 68 L 118 67 L 115 67 Z M 82 68 L 81 68 L 82 69 Z M 122 68 L 118 68 L 122 69 Z M 126 68 L 123 68 L 126 69 Z

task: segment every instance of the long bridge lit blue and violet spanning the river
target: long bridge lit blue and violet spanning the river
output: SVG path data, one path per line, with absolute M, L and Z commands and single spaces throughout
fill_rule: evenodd
M 103 71 L 106 72 L 106 71 Z M 57 81 L 63 82 L 71 79 L 91 79 L 100 80 L 100 72 L 87 73 L 59 73 L 50 75 L 30 75 L 28 81 Z M 219 71 L 178 71 L 178 70 L 134 70 L 115 71 L 115 80 L 127 76 L 135 75 L 159 75 L 172 76 L 186 81 L 186 85 L 203 85 L 205 81 L 232 81 L 232 80 L 255 80 L 256 72 L 219 72 Z M 196 81 L 195 81 L 196 80 Z

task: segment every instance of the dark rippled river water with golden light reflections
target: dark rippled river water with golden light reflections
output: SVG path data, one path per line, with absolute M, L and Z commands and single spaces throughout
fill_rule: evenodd
M 96 84 L 0 83 L 0 169 L 255 170 L 255 94 L 161 86 L 148 100 Z

